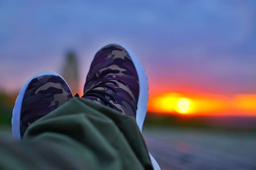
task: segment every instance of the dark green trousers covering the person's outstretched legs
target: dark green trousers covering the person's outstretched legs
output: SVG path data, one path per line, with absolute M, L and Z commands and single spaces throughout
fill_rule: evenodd
M 0 140 L 0 169 L 152 169 L 134 118 L 77 97 Z

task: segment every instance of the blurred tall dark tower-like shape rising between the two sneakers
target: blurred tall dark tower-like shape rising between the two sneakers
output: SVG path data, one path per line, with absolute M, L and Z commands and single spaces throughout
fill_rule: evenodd
M 73 93 L 78 92 L 79 73 L 78 59 L 74 51 L 68 51 L 65 55 L 65 62 L 62 69 L 62 76 L 67 81 Z

